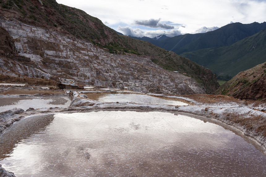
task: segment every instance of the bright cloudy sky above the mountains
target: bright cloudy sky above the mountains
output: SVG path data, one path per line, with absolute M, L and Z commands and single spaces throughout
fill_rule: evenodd
M 84 10 L 131 36 L 169 37 L 215 30 L 229 23 L 263 23 L 266 0 L 56 0 Z

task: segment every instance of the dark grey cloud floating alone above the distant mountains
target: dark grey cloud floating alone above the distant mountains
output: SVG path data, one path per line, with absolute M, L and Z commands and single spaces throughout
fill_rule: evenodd
M 144 26 L 144 27 L 151 27 L 151 28 L 161 28 L 165 30 L 174 29 L 174 26 L 167 25 L 166 23 L 160 23 L 161 19 L 149 19 L 144 21 L 135 21 L 136 25 Z

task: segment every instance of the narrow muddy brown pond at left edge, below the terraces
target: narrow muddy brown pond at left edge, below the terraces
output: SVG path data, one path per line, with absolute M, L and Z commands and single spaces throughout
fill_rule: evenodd
M 34 95 L 34 94 L 63 94 L 62 90 L 37 90 L 37 89 L 10 89 L 2 92 L 2 95 Z

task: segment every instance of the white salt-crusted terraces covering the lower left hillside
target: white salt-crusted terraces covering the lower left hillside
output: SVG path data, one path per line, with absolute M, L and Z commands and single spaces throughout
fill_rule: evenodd
M 12 36 L 19 54 L 1 58 L 1 74 L 73 79 L 144 93 L 204 93 L 194 79 L 163 70 L 148 57 L 111 54 L 60 30 L 6 20 L 0 26 Z

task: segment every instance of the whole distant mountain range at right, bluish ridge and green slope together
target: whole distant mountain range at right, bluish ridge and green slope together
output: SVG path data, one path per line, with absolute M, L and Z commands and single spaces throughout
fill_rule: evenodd
M 230 80 L 238 72 L 266 61 L 265 36 L 264 32 L 260 32 L 264 29 L 266 29 L 266 22 L 231 23 L 207 33 L 178 35 L 162 40 L 134 38 L 174 51 L 178 55 L 210 68 L 218 79 Z M 258 32 L 260 34 L 257 34 Z M 255 36 L 251 37 L 252 35 Z M 251 38 L 235 44 L 247 37 Z

